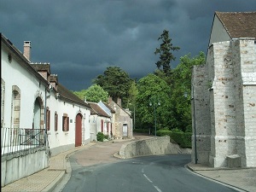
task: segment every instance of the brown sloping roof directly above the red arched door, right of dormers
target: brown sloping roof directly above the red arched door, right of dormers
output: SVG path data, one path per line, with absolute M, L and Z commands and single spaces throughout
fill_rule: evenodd
M 65 88 L 63 85 L 58 84 L 57 91 L 58 93 L 60 93 L 61 99 L 68 100 L 70 102 L 76 102 L 84 107 L 90 108 L 90 106 L 87 103 L 85 103 L 82 99 L 80 99 L 79 96 L 74 95 L 73 92 L 67 90 L 67 88 Z

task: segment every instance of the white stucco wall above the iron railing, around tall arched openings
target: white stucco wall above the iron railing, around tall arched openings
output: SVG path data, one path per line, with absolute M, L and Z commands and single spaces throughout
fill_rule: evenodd
M 38 78 L 21 67 L 14 54 L 12 61 L 8 60 L 9 50 L 2 47 L 1 51 L 1 78 L 5 82 L 4 119 L 3 127 L 11 127 L 12 87 L 20 89 L 20 128 L 32 128 L 34 102 L 38 96 L 44 104 L 45 85 L 40 84 Z

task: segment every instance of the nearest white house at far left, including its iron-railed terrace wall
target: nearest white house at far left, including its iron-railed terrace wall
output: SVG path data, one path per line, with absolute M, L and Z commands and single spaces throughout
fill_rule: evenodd
M 1 34 L 1 186 L 48 166 L 44 113 L 49 82 L 29 63 Z M 26 160 L 29 153 L 32 161 Z

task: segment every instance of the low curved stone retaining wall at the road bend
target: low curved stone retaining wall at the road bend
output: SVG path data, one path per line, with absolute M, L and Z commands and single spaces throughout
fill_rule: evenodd
M 180 148 L 171 143 L 170 137 L 154 137 L 145 140 L 125 143 L 119 150 L 122 159 L 154 154 L 191 154 L 190 148 Z

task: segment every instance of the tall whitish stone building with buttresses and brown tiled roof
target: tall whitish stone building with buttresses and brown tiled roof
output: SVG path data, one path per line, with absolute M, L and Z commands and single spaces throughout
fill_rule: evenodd
M 207 63 L 193 67 L 193 162 L 256 167 L 255 20 L 256 12 L 215 12 Z

